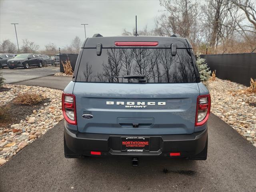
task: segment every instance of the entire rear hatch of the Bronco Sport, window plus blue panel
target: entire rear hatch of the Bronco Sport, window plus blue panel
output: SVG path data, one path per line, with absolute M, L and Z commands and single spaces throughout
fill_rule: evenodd
M 73 94 L 79 132 L 194 132 L 199 89 L 187 44 L 178 46 L 175 56 L 170 44 L 102 46 L 101 54 L 96 52 L 96 47 L 84 48 L 76 74 Z M 146 82 L 123 78 L 131 75 L 144 75 Z

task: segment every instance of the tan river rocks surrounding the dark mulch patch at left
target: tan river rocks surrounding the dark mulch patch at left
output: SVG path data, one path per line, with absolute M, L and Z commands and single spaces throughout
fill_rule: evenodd
M 11 125 L 9 129 L 0 128 L 1 166 L 63 119 L 61 110 L 61 90 L 12 84 L 4 84 L 4 88 L 4 90 L 7 91 L 1 92 L 0 105 L 5 105 L 19 93 L 26 92 L 44 95 L 50 102 L 43 104 L 39 110 L 33 110 L 30 116 L 26 116 L 26 118 L 20 120 L 18 124 Z

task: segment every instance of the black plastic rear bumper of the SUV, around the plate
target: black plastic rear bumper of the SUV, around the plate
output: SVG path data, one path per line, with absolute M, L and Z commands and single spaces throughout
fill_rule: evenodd
M 170 152 L 180 152 L 179 157 L 195 156 L 206 146 L 207 128 L 193 134 L 139 135 L 150 137 L 150 151 L 123 152 L 121 137 L 129 135 L 80 133 L 64 128 L 66 146 L 79 155 L 91 156 L 91 151 L 101 152 L 101 156 L 170 156 Z M 133 135 L 134 136 L 134 135 Z

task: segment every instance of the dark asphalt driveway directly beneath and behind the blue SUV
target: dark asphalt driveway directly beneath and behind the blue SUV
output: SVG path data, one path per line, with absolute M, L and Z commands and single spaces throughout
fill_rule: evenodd
M 0 168 L 2 192 L 256 191 L 256 148 L 213 114 L 206 161 L 140 158 L 138 167 L 130 158 L 64 158 L 63 126 L 61 121 Z

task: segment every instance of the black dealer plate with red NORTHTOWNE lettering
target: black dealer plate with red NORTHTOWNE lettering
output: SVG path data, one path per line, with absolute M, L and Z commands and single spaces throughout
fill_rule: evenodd
M 149 137 L 121 137 L 122 151 L 143 152 L 149 151 Z

